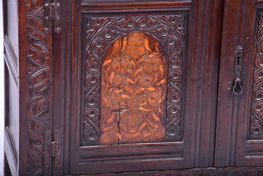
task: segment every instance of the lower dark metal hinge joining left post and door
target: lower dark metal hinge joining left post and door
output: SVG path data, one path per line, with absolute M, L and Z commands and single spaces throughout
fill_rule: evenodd
M 52 142 L 52 133 L 50 130 L 44 132 L 45 141 L 45 167 L 51 168 L 52 157 L 54 157 L 55 167 L 61 167 L 61 131 L 57 129 L 54 131 L 54 141 Z

